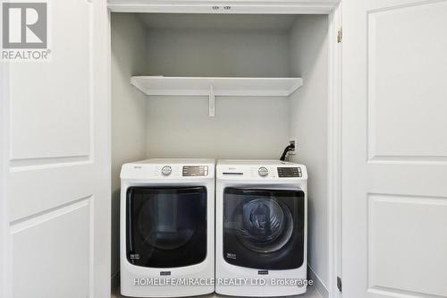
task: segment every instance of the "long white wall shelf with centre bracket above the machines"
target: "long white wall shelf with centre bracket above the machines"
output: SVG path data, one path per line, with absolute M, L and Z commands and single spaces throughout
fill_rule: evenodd
M 207 96 L 214 116 L 215 96 L 288 97 L 302 86 L 301 78 L 133 76 L 131 84 L 151 95 Z

